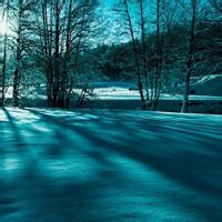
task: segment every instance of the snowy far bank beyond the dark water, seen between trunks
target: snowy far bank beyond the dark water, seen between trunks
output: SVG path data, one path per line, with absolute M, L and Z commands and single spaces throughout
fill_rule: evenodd
M 41 87 L 46 88 L 44 84 Z M 41 87 L 39 89 L 41 89 Z M 89 88 L 93 90 L 94 95 L 100 100 L 140 100 L 137 85 L 132 82 L 92 81 L 89 83 Z M 12 98 L 12 87 L 8 88 L 7 98 Z M 222 74 L 193 78 L 191 81 L 191 90 L 194 91 L 194 94 L 190 95 L 191 100 L 222 100 Z M 30 89 L 30 91 L 33 92 L 34 88 Z M 80 94 L 81 89 L 75 89 L 74 92 Z M 33 98 L 37 94 L 28 93 L 28 98 Z M 39 94 L 39 97 L 47 99 L 46 95 Z M 182 100 L 182 95 L 162 93 L 160 99 Z

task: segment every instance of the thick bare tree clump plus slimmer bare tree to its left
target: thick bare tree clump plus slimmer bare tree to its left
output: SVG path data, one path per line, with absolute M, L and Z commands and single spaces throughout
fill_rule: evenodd
M 6 44 L 10 57 L 13 57 L 14 107 L 19 105 L 20 90 L 26 84 L 22 79 L 30 69 L 44 75 L 50 107 L 70 105 L 72 88 L 80 72 L 79 58 L 87 51 L 88 39 L 95 26 L 97 6 L 97 0 L 18 0 L 16 4 L 3 2 L 2 10 L 7 12 L 3 14 L 13 23 Z M 6 56 L 3 60 L 6 70 Z M 2 82 L 6 83 L 6 79 Z

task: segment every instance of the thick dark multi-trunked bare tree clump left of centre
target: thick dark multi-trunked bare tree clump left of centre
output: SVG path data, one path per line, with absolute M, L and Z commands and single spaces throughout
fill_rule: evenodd
M 42 0 L 40 6 L 33 29 L 38 39 L 33 53 L 37 61 L 43 61 L 48 104 L 67 108 L 77 81 L 78 58 L 92 28 L 97 1 Z

